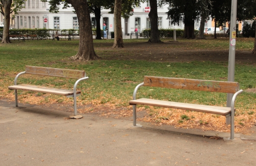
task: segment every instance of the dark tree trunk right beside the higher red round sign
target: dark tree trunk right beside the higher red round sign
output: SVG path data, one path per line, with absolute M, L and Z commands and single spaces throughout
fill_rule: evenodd
M 150 3 L 150 12 L 148 13 L 148 17 L 150 19 L 151 24 L 151 35 L 149 38 L 149 42 L 151 43 L 159 43 L 161 40 L 159 39 L 159 31 L 158 31 L 158 3 L 157 0 L 149 0 Z

